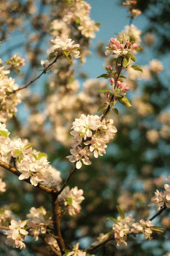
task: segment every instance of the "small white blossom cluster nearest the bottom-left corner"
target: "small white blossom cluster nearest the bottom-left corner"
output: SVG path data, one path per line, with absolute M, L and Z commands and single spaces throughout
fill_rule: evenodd
M 28 235 L 28 231 L 24 229 L 27 225 L 27 220 L 18 222 L 12 219 L 11 225 L 9 226 L 10 230 L 7 230 L 4 234 L 7 236 L 6 244 L 13 244 L 14 248 L 26 248 L 26 245 L 23 243 L 25 236 Z

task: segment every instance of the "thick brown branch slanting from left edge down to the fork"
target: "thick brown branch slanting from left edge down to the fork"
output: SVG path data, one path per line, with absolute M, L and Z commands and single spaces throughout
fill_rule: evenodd
M 21 175 L 21 172 L 18 171 L 15 167 L 12 167 L 11 165 L 8 165 L 7 163 L 3 162 L 2 160 L 0 160 L 0 166 L 2 166 L 2 167 L 5 168 L 6 170 L 8 170 L 8 171 L 14 173 L 14 174 L 17 175 L 18 177 Z M 31 184 L 30 179 L 25 179 L 25 180 L 23 180 L 23 181 L 24 181 L 24 182 L 27 182 L 27 183 L 29 183 L 29 184 Z M 42 185 L 42 184 L 39 184 L 39 183 L 38 183 L 37 186 L 35 186 L 35 187 L 39 188 L 40 190 L 45 191 L 45 192 L 48 193 L 48 194 L 52 193 L 52 189 L 51 189 L 51 188 L 48 188 L 48 187 L 46 187 L 46 186 L 44 186 L 44 185 Z

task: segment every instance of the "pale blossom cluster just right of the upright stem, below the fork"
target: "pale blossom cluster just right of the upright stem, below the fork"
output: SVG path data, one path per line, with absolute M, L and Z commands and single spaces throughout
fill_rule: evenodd
M 58 195 L 58 201 L 64 201 L 64 205 L 68 205 L 68 212 L 70 215 L 75 215 L 81 210 L 81 202 L 84 200 L 83 190 L 78 187 L 72 189 L 69 186 L 65 187 L 60 195 Z

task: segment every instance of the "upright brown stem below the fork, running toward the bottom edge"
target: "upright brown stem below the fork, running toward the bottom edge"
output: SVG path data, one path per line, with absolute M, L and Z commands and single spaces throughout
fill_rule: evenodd
M 61 228 L 60 228 L 60 223 L 61 223 L 61 207 L 58 205 L 58 198 L 57 195 L 51 194 L 51 203 L 52 203 L 52 220 L 54 221 L 53 226 L 54 226 L 54 233 L 55 236 L 58 237 L 57 243 L 58 246 L 60 247 L 61 252 L 64 253 L 65 250 L 65 244 L 64 240 L 61 234 Z

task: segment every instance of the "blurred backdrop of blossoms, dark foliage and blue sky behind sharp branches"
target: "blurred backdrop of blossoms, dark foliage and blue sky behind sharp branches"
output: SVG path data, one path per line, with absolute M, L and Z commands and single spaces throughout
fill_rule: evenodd
M 70 6 L 66 7 L 67 3 Z M 40 77 L 28 89 L 21 90 L 22 103 L 17 115 L 7 122 L 11 138 L 27 138 L 34 147 L 45 152 L 51 164 L 61 171 L 65 180 L 73 164 L 66 159 L 73 141 L 70 128 L 82 113 L 101 115 L 98 107 L 105 96 L 98 88 L 107 88 L 109 82 L 96 79 L 105 73 L 108 65 L 114 66 L 112 58 L 104 55 L 111 37 L 119 38 L 121 31 L 129 30 L 128 8 L 118 0 L 89 0 L 90 18 L 100 23 L 95 37 L 78 33 L 77 24 L 62 24 L 63 13 L 72 8 L 73 1 L 19 1 L 1 0 L 0 3 L 0 58 L 3 62 L 18 54 L 26 59 L 21 72 L 10 75 L 20 86 L 36 77 L 48 59 L 51 39 L 68 32 L 69 38 L 83 45 L 82 58 L 74 60 L 71 67 L 63 59 L 57 61 L 52 72 Z M 141 15 L 132 20 L 130 29 L 143 51 L 137 53 L 136 64 L 143 73 L 127 69 L 126 84 L 130 87 L 126 96 L 132 107 L 116 104 L 119 115 L 113 112 L 118 132 L 106 148 L 103 157 L 92 160 L 92 165 L 77 170 L 69 181 L 70 188 L 84 190 L 85 200 L 81 213 L 65 216 L 62 233 L 66 244 L 80 242 L 81 248 L 96 241 L 100 232 L 106 233 L 112 222 L 106 217 L 118 215 L 116 205 L 133 214 L 136 221 L 148 219 L 155 214 L 155 206 L 148 207 L 156 189 L 163 190 L 170 167 L 170 1 L 139 0 L 136 9 Z M 72 26 L 72 27 L 71 27 Z M 96 29 L 97 30 L 97 29 Z M 0 177 L 7 184 L 1 195 L 0 207 L 10 209 L 25 219 L 29 209 L 43 205 L 51 209 L 50 197 L 29 184 L 18 180 L 11 173 L 0 169 Z M 158 256 L 170 252 L 170 219 L 167 209 L 153 221 L 164 226 L 165 233 L 154 235 L 151 241 L 137 234 L 129 236 L 127 247 L 109 243 L 94 253 L 98 256 Z M 27 246 L 25 251 L 9 251 L 0 233 L 2 255 L 38 255 Z M 32 241 L 27 242 L 32 243 Z M 41 242 L 33 242 L 41 246 Z

